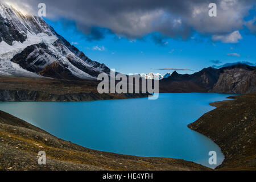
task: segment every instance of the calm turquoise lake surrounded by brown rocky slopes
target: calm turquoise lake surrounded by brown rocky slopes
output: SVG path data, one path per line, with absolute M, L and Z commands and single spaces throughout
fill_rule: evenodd
M 215 168 L 224 160 L 212 140 L 187 125 L 231 94 L 163 93 L 90 102 L 0 102 L 0 110 L 81 146 L 118 154 L 167 157 Z M 221 122 L 221 121 L 220 121 Z M 210 165 L 209 151 L 217 152 Z

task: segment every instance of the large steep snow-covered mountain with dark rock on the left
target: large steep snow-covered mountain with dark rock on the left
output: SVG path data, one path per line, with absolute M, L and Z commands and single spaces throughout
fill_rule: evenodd
M 110 73 L 42 18 L 0 3 L 0 76 L 96 79 Z

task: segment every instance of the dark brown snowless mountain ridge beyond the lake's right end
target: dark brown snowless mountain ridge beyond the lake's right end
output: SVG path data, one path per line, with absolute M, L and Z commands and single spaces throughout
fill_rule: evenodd
M 236 64 L 220 69 L 204 68 L 192 75 L 176 71 L 159 81 L 160 92 L 216 92 L 244 94 L 256 91 L 256 67 Z

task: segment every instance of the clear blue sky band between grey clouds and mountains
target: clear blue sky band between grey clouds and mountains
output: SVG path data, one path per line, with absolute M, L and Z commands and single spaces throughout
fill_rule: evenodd
M 237 61 L 255 63 L 256 60 L 256 36 L 247 29 L 240 31 L 242 40 L 238 43 L 213 42 L 210 36 L 194 32 L 187 40 L 167 38 L 166 44 L 160 46 L 151 39 L 155 33 L 135 40 L 106 34 L 104 39 L 88 41 L 77 30 L 75 22 L 69 22 L 68 25 L 64 19 L 46 19 L 46 22 L 90 59 L 126 74 L 168 72 L 158 68 L 186 68 L 192 71 L 177 72 L 191 74 L 214 65 L 211 60 L 219 60 L 220 64 Z M 232 53 L 237 53 L 240 57 L 227 55 Z

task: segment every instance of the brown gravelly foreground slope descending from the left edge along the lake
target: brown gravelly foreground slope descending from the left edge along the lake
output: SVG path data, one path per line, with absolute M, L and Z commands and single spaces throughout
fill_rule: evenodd
M 38 152 L 46 152 L 46 165 Z M 0 111 L 0 170 L 211 170 L 193 162 L 101 152 L 54 137 Z

